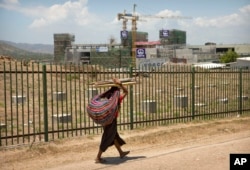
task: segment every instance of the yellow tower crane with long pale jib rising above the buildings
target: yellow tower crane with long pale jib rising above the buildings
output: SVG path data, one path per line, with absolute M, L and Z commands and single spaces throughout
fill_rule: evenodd
M 191 17 L 185 17 L 185 16 L 157 16 L 157 15 L 136 15 L 135 12 L 135 8 L 136 8 L 136 4 L 134 4 L 133 6 L 133 13 L 126 13 L 126 10 L 124 10 L 123 13 L 118 13 L 117 17 L 118 20 L 123 19 L 123 31 L 126 31 L 127 29 L 127 22 L 128 20 L 131 20 L 132 22 L 132 28 L 131 28 L 131 32 L 132 32 L 132 66 L 135 66 L 135 50 L 136 50 L 136 45 L 135 45 L 135 40 L 136 40 L 136 22 L 137 21 L 146 21 L 145 19 L 141 19 L 141 18 L 155 18 L 155 19 L 165 19 L 165 18 L 169 18 L 169 19 L 191 19 Z

